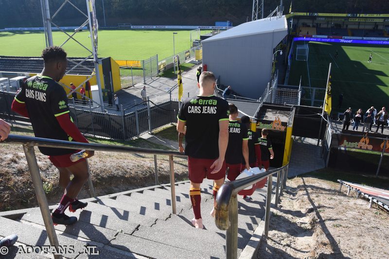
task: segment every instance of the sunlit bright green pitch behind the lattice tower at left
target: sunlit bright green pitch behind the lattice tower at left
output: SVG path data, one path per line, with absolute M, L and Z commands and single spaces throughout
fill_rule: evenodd
M 118 60 L 141 60 L 158 54 L 159 59 L 163 59 L 173 55 L 173 32 L 177 32 L 176 53 L 189 50 L 190 31 L 187 30 L 103 30 L 98 33 L 98 54 Z M 201 35 L 208 32 L 202 30 Z M 88 35 L 89 32 L 80 32 L 74 38 L 90 48 Z M 66 38 L 62 32 L 53 32 L 54 45 L 62 44 Z M 43 32 L 0 32 L 0 55 L 40 56 L 45 46 Z M 70 57 L 85 57 L 89 53 L 74 40 L 68 41 L 63 48 Z

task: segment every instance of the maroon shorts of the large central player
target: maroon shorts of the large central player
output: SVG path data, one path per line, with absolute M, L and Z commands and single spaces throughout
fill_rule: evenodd
M 226 162 L 223 162 L 219 172 L 211 173 L 211 166 L 215 160 L 188 156 L 189 180 L 193 183 L 201 184 L 205 178 L 210 180 L 223 179 L 226 176 Z

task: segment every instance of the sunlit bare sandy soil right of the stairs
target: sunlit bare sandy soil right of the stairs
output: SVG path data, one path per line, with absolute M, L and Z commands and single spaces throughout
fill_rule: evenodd
M 311 177 L 288 180 L 257 258 L 389 258 L 389 214 L 338 188 Z

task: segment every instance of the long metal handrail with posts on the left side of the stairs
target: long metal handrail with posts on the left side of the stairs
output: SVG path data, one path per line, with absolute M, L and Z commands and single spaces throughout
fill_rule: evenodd
M 158 149 L 146 149 L 146 148 L 134 148 L 125 146 L 114 146 L 114 145 L 102 145 L 92 143 L 79 143 L 70 142 L 64 140 L 47 139 L 47 138 L 33 138 L 28 136 L 17 136 L 9 135 L 8 138 L 3 141 L 10 144 L 23 145 L 24 154 L 26 155 L 27 164 L 30 170 L 31 179 L 34 184 L 34 190 L 36 199 L 38 201 L 40 211 L 42 213 L 43 222 L 45 224 L 47 236 L 49 237 L 50 244 L 58 249 L 59 243 L 57 235 L 55 233 L 53 220 L 51 217 L 49 204 L 47 202 L 45 191 L 43 190 L 42 178 L 40 176 L 39 167 L 36 162 L 36 156 L 34 147 L 51 147 L 51 148 L 67 148 L 67 149 L 86 149 L 94 151 L 107 151 L 107 152 L 119 152 L 119 153 L 137 153 L 137 154 L 149 154 L 154 155 L 155 165 L 157 156 L 156 155 L 168 155 L 169 156 L 169 167 L 170 167 L 170 186 L 171 186 L 171 197 L 172 197 L 172 213 L 176 214 L 176 190 L 175 190 L 175 178 L 174 178 L 174 161 L 173 156 L 185 156 L 175 151 L 165 151 Z M 2 143 L 2 142 L 1 142 Z M 89 171 L 89 169 L 88 169 Z M 89 173 L 89 172 L 88 172 Z M 158 171 L 156 168 L 156 183 L 158 182 Z M 93 184 L 90 178 L 88 179 L 89 190 L 91 197 L 94 197 Z M 61 255 L 54 255 L 55 259 L 62 259 Z

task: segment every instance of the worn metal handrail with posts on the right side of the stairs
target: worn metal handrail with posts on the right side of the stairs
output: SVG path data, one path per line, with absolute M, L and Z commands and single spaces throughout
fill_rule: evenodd
M 216 195 L 215 224 L 221 230 L 226 231 L 226 258 L 236 259 L 238 256 L 238 198 L 239 191 L 256 184 L 267 178 L 267 194 L 265 206 L 265 236 L 269 232 L 270 203 L 273 187 L 273 174 L 277 173 L 276 197 L 274 207 L 277 207 L 280 195 L 286 185 L 289 164 L 274 170 L 225 183 L 220 187 Z

